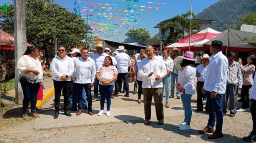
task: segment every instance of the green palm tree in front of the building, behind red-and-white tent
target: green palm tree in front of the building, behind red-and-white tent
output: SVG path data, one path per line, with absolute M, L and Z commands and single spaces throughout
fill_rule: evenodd
M 180 38 L 184 39 L 186 34 L 190 32 L 190 19 L 191 12 L 186 12 L 185 14 L 176 15 L 173 17 L 171 22 L 166 23 L 164 26 L 164 31 L 171 29 L 170 35 L 167 37 L 167 41 L 171 43 L 177 42 Z M 192 18 L 195 19 L 196 15 L 192 12 Z M 201 25 L 192 19 L 192 30 L 199 32 L 201 30 Z M 196 32 L 193 32 L 196 33 Z

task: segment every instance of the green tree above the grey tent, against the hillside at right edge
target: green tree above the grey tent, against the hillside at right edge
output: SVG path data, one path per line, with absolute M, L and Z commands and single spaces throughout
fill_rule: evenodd
M 240 17 L 238 24 L 232 25 L 232 29 L 239 30 L 242 24 L 256 25 L 256 13 L 248 13 L 247 15 Z

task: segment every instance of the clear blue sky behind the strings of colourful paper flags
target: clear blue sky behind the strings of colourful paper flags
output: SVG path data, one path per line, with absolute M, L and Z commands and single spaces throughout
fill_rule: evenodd
M 124 13 L 126 15 L 123 15 L 123 16 L 128 17 L 130 21 L 123 20 L 122 22 L 120 22 L 119 27 L 115 27 L 115 25 L 113 25 L 114 22 L 117 22 L 116 20 L 112 20 L 113 23 L 109 23 L 111 21 L 110 18 L 108 18 L 110 17 L 109 14 L 105 15 L 105 17 L 98 17 L 97 19 L 95 16 L 93 17 L 93 15 L 88 16 L 89 18 L 88 21 L 90 24 L 93 24 L 93 22 L 95 22 L 95 24 L 96 23 L 105 24 L 106 22 L 106 24 L 111 25 L 111 26 L 109 25 L 107 26 L 108 30 L 106 30 L 105 28 L 99 29 L 100 27 L 106 27 L 106 26 L 99 26 L 97 24 L 91 25 L 93 27 L 96 27 L 96 29 L 98 29 L 98 31 L 96 29 L 94 30 L 95 35 L 102 36 L 104 39 L 115 40 L 115 41 L 123 41 L 125 39 L 124 34 L 128 32 L 129 29 L 133 29 L 133 27 L 134 29 L 146 28 L 146 30 L 150 32 L 151 36 L 154 36 L 159 32 L 158 28 L 157 29 L 153 28 L 156 24 L 158 24 L 158 22 L 174 17 L 175 15 L 181 15 L 183 13 L 186 13 L 190 11 L 190 6 L 191 6 L 190 5 L 191 0 L 137 0 L 137 1 L 138 2 L 134 2 L 133 0 L 77 0 L 77 5 L 74 5 L 75 0 L 55 0 L 55 2 L 68 8 L 68 10 L 71 12 L 74 12 L 74 8 L 78 6 L 80 9 L 80 15 L 82 17 L 86 16 L 87 14 L 86 11 L 91 12 L 93 10 L 96 10 L 95 9 L 96 6 L 99 7 L 99 11 L 97 11 L 97 13 L 101 11 L 103 15 L 104 10 L 105 12 L 107 12 L 106 10 L 108 10 L 108 7 L 113 7 L 113 9 L 115 7 L 116 9 L 118 8 L 119 10 L 121 9 L 127 10 L 128 7 L 125 7 L 125 5 L 131 5 L 132 10 L 134 9 L 134 11 L 137 13 L 140 12 L 140 14 L 137 15 L 138 18 L 136 15 L 134 15 L 134 13 L 130 13 L 131 10 L 129 9 L 127 12 L 129 13 L 128 15 L 127 13 L 120 12 L 118 13 L 119 16 L 121 13 Z M 1 0 L 0 5 L 3 5 L 5 2 L 13 4 L 13 0 Z M 209 7 L 210 5 L 216 2 L 218 2 L 218 0 L 193 0 L 192 11 L 195 14 L 198 14 L 199 12 L 202 12 L 204 9 L 206 9 L 207 7 Z M 134 7 L 135 5 L 138 5 L 138 7 Z M 143 8 L 140 9 L 141 5 L 146 6 L 144 10 L 148 10 L 148 11 L 147 12 L 142 11 L 141 9 Z M 102 9 L 101 7 L 103 6 L 106 7 L 106 9 Z M 92 7 L 92 8 L 89 8 L 89 7 Z M 108 10 L 108 12 L 111 12 L 111 14 L 113 13 L 112 11 Z

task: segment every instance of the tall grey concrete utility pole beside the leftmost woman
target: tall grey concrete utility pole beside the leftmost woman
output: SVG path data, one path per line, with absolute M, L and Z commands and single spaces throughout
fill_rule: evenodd
M 27 24 L 26 24 L 26 5 L 25 0 L 14 0 L 14 38 L 15 38 L 15 65 L 18 59 L 27 50 Z M 16 104 L 23 102 L 23 90 L 21 88 L 18 70 L 15 67 L 15 101 Z

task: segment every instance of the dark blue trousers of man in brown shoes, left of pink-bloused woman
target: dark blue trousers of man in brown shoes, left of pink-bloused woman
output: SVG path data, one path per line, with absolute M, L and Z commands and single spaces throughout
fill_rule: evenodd
M 90 83 L 80 84 L 75 83 L 76 86 L 76 93 L 77 93 L 77 100 L 78 100 L 78 109 L 83 110 L 83 88 L 85 89 L 85 94 L 88 101 L 88 111 L 92 110 L 92 96 L 91 96 L 91 89 L 90 89 Z

